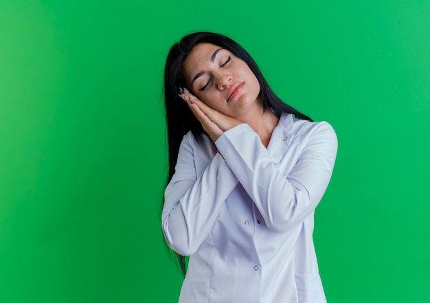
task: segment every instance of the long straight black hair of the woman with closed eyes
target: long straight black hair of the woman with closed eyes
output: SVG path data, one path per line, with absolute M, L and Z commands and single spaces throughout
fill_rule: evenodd
M 174 174 L 174 167 L 177 163 L 179 146 L 181 145 L 183 135 L 188 133 L 188 131 L 192 131 L 196 139 L 199 139 L 205 133 L 199 120 L 194 117 L 185 102 L 178 96 L 179 87 L 186 87 L 183 77 L 183 63 L 192 52 L 192 49 L 200 43 L 212 43 L 223 47 L 247 63 L 260 83 L 260 94 L 258 97 L 262 100 L 263 111 L 271 109 L 278 117 L 280 117 L 281 113 L 292 113 L 299 119 L 312 121 L 310 117 L 285 104 L 275 95 L 266 79 L 264 79 L 257 63 L 243 47 L 231 38 L 213 32 L 195 32 L 184 36 L 179 43 L 174 43 L 170 48 L 164 69 L 164 102 L 169 153 L 167 183 L 170 182 Z M 181 271 L 185 276 L 185 257 L 177 253 L 174 256 L 176 256 Z

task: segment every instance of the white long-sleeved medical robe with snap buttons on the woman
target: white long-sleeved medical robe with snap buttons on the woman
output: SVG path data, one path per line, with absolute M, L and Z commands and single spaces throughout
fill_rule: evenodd
M 190 255 L 179 302 L 325 303 L 314 211 L 336 153 L 330 124 L 290 114 L 267 148 L 247 124 L 215 144 L 185 135 L 162 213 L 168 245 Z

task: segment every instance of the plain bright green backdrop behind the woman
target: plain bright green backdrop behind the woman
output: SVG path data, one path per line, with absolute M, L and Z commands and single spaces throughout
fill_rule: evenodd
M 1 0 L 0 302 L 177 302 L 161 88 L 196 30 L 337 131 L 315 229 L 328 302 L 430 302 L 423 0 Z

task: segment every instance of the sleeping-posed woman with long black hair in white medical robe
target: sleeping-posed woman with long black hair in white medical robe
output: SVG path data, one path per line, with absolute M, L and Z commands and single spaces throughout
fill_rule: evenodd
M 162 229 L 190 256 L 181 303 L 326 302 L 315 207 L 337 153 L 330 124 L 286 105 L 251 56 L 196 32 L 170 49 Z

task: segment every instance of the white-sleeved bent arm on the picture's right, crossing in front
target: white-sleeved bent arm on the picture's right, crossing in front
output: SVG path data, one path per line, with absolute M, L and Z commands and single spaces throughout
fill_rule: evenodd
M 282 161 L 297 161 L 285 175 L 260 137 L 247 126 L 237 126 L 216 141 L 220 153 L 260 210 L 270 229 L 286 231 L 302 222 L 321 200 L 335 164 L 337 137 L 330 124 L 308 124 L 302 131 L 300 155 L 286 150 Z

